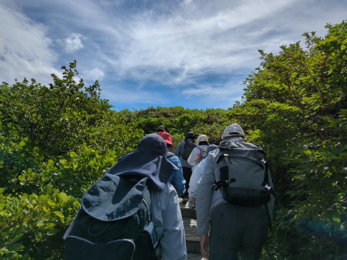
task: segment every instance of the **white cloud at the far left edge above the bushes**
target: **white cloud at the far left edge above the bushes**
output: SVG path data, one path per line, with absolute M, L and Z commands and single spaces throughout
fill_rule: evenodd
M 52 40 L 47 28 L 34 23 L 15 8 L 0 3 L 0 82 L 9 84 L 17 78 L 36 78 L 38 82 L 52 82 L 51 73 L 59 75 L 54 68 L 57 54 L 52 51 Z

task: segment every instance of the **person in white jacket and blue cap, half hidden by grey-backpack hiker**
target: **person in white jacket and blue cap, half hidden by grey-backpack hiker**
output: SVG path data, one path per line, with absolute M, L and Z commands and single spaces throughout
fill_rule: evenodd
M 196 165 L 194 168 L 190 181 L 189 181 L 189 188 L 188 188 L 188 193 L 189 193 L 189 201 L 188 201 L 188 208 L 195 208 L 195 198 L 196 198 L 196 186 L 198 185 L 198 181 L 200 180 L 202 176 L 202 171 L 205 166 L 205 161 L 210 152 L 213 150 L 217 149 L 218 146 L 216 145 L 210 145 L 206 149 L 206 154 L 203 155 L 203 159 Z

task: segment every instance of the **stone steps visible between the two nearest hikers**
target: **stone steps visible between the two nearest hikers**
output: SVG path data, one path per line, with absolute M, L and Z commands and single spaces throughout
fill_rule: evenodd
M 188 204 L 179 203 L 183 219 L 185 231 L 185 243 L 187 253 L 200 254 L 200 237 L 196 226 L 196 211 L 195 208 L 188 208 Z

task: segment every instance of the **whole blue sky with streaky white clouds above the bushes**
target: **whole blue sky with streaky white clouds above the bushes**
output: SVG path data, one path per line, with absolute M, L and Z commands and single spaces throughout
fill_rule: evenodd
M 0 82 L 77 60 L 116 110 L 229 108 L 258 49 L 304 42 L 347 19 L 346 0 L 1 0 Z

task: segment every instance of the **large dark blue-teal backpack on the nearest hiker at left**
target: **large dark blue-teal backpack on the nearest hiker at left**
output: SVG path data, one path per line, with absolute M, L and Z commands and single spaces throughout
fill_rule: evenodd
M 105 174 L 64 235 L 65 260 L 155 260 L 148 178 Z

